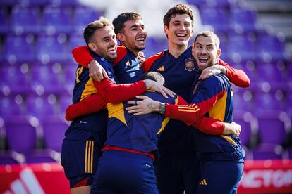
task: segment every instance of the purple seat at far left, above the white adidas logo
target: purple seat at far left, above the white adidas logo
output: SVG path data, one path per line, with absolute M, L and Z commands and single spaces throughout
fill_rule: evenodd
M 26 117 L 18 117 L 6 122 L 6 136 L 8 148 L 18 153 L 28 153 L 36 146 L 37 129 Z

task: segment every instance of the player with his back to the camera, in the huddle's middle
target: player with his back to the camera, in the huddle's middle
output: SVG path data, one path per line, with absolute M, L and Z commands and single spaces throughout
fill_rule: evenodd
M 164 84 L 164 78 L 157 72 L 148 72 L 142 79 Z M 164 98 L 154 91 L 146 91 L 143 95 L 162 102 L 178 102 L 177 98 Z M 128 106 L 127 102 L 107 104 L 107 140 L 91 193 L 158 193 L 154 153 L 157 151 L 157 135 L 164 130 L 169 119 L 157 112 L 133 116 L 125 111 Z

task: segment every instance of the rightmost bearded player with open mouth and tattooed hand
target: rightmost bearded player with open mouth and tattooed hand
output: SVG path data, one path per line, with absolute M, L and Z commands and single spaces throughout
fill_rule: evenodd
M 202 72 L 218 63 L 221 50 L 219 38 L 213 32 L 200 32 L 193 44 L 193 56 L 197 69 Z M 139 97 L 139 96 L 138 96 Z M 157 111 L 166 117 L 179 119 L 186 124 L 193 124 L 196 119 L 207 115 L 222 122 L 232 122 L 233 92 L 226 75 L 213 75 L 205 80 L 195 79 L 192 87 L 191 103 L 171 105 L 153 101 L 146 96 L 137 107 L 127 108 L 134 115 Z M 183 101 L 180 101 L 183 102 Z M 133 101 L 130 104 L 137 104 Z M 211 136 L 194 130 L 197 148 L 202 154 L 200 183 L 197 193 L 236 193 L 238 182 L 243 174 L 245 152 L 237 136 Z M 224 174 L 224 176 L 219 176 Z

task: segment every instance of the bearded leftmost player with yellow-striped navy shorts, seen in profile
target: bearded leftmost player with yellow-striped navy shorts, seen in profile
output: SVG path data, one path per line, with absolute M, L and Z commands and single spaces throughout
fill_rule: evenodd
M 105 18 L 90 23 L 85 27 L 84 39 L 91 50 L 92 56 L 107 72 L 111 82 L 116 83 L 116 77 L 112 68 L 112 61 L 116 58 L 116 34 L 114 27 Z M 107 82 L 103 82 L 106 83 Z M 88 69 L 78 65 L 76 70 L 75 86 L 73 91 L 73 103 L 86 101 L 89 96 L 99 91 L 99 86 L 89 77 Z M 144 80 L 128 85 L 116 85 L 111 87 L 113 96 L 116 93 L 121 96 L 117 101 L 126 101 L 137 93 L 143 93 L 147 89 L 164 91 L 164 87 L 152 80 Z M 112 91 L 114 89 L 114 91 Z M 97 91 L 98 90 L 98 91 Z M 165 91 L 169 91 L 165 89 Z M 99 104 L 106 104 L 101 98 Z M 64 167 L 66 177 L 70 181 L 71 193 L 88 193 L 93 181 L 93 174 L 97 168 L 100 151 L 103 147 L 107 131 L 107 110 L 95 112 L 75 119 L 66 131 L 63 140 L 61 164 Z

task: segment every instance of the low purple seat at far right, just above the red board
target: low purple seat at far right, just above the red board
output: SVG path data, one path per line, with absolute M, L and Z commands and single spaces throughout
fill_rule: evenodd
M 260 145 L 252 150 L 253 160 L 281 160 L 282 159 L 282 147 L 275 144 Z

